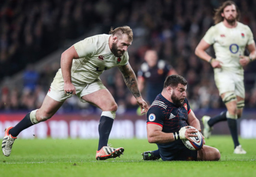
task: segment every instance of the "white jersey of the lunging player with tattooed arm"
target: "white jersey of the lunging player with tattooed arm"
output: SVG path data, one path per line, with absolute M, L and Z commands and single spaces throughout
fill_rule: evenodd
M 128 63 L 127 51 L 122 57 L 115 57 L 109 48 L 111 35 L 95 35 L 74 44 L 79 59 L 74 59 L 71 68 L 72 83 L 86 84 L 93 82 L 104 70 Z M 61 68 L 56 75 L 61 75 Z M 62 81 L 63 81 L 63 77 Z

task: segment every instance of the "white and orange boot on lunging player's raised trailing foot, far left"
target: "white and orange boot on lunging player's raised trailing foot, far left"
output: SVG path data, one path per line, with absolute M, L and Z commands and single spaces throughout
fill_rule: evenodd
M 7 127 L 4 133 L 4 139 L 2 142 L 2 151 L 5 156 L 9 156 L 11 154 L 11 148 L 13 146 L 13 142 L 17 137 L 13 137 L 9 134 L 9 130 L 13 127 Z

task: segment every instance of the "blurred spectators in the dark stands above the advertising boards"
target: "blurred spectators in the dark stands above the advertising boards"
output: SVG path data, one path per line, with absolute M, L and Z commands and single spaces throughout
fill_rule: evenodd
M 60 64 L 42 71 L 35 62 L 69 40 L 92 28 L 108 33 L 111 26 L 128 25 L 134 32 L 129 47 L 130 64 L 135 73 L 148 48 L 171 64 L 188 81 L 187 98 L 193 109 L 224 108 L 213 80 L 210 64 L 197 58 L 195 47 L 213 25 L 213 9 L 222 0 L 4 0 L 0 2 L 0 80 L 24 70 L 23 88 L 2 86 L 0 110 L 35 109 L 41 106 Z M 240 21 L 256 36 L 256 0 L 236 1 Z M 100 34 L 100 33 L 98 33 Z M 79 39 L 81 40 L 81 39 Z M 63 47 L 63 51 L 64 51 Z M 213 49 L 208 51 L 214 56 Z M 248 55 L 248 53 L 247 53 Z M 60 56 L 59 56 L 60 59 Z M 256 106 L 256 62 L 245 68 L 246 108 Z M 115 97 L 119 111 L 137 106 L 117 69 L 105 71 L 102 81 Z M 89 105 L 76 97 L 61 109 L 82 110 Z M 87 109 L 92 110 L 93 108 Z

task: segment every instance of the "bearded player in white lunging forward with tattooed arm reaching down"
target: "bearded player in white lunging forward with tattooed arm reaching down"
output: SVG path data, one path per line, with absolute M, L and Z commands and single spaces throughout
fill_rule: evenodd
M 82 102 L 102 109 L 96 159 L 115 158 L 123 148 L 108 146 L 108 138 L 115 119 L 117 103 L 99 76 L 104 70 L 117 66 L 127 87 L 141 107 L 141 113 L 148 111 L 148 105 L 141 97 L 137 79 L 128 59 L 128 47 L 132 44 L 133 33 L 128 26 L 111 28 L 109 35 L 102 34 L 77 42 L 61 55 L 61 68 L 56 73 L 41 108 L 28 113 L 15 127 L 7 127 L 2 142 L 4 155 L 9 156 L 14 140 L 19 133 L 39 122 L 50 119 L 63 102 L 77 95 Z

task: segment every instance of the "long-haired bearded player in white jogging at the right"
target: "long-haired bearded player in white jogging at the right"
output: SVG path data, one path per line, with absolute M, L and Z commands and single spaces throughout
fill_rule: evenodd
M 215 84 L 227 108 L 227 111 L 213 118 L 202 117 L 204 136 L 210 136 L 214 124 L 227 120 L 234 141 L 234 153 L 245 154 L 246 151 L 238 141 L 237 119 L 241 117 L 245 106 L 243 67 L 255 60 L 256 47 L 250 28 L 238 22 L 239 15 L 239 9 L 233 1 L 226 1 L 216 9 L 213 18 L 215 26 L 206 32 L 196 47 L 195 54 L 214 68 Z M 211 45 L 216 58 L 206 53 Z M 248 57 L 244 56 L 245 47 L 250 52 Z

